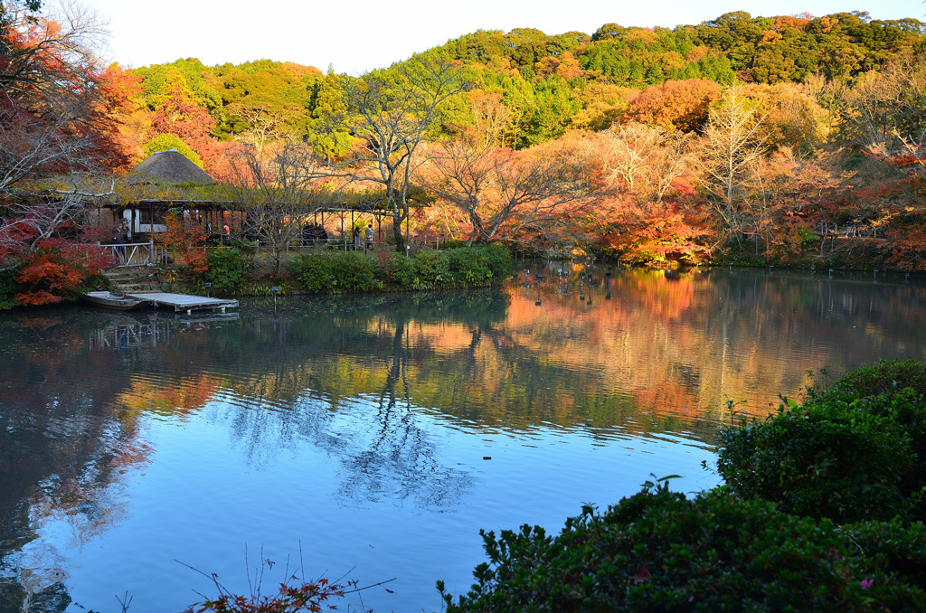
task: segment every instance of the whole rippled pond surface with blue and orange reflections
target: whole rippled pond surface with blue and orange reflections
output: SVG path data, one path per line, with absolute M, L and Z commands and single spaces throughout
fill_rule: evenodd
M 480 529 L 711 487 L 732 410 L 926 358 L 903 275 L 536 266 L 222 317 L 0 314 L 0 611 L 180 611 L 211 573 L 269 593 L 294 569 L 394 580 L 342 610 L 437 611 Z

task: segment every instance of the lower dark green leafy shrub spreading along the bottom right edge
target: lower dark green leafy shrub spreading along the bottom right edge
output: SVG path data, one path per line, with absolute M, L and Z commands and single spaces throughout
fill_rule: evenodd
M 665 486 L 603 515 L 585 507 L 556 537 L 482 532 L 488 563 L 447 611 L 915 610 L 907 584 L 829 520 L 782 513 L 720 488 L 686 499 Z M 920 608 L 921 610 L 921 608 Z

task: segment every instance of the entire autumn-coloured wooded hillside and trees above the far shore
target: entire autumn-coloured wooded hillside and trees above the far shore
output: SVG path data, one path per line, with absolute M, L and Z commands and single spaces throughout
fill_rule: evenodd
M 196 275 L 207 239 L 259 242 L 279 278 L 290 245 L 373 224 L 398 255 L 926 271 L 919 19 L 476 31 L 351 76 L 106 66 L 94 16 L 41 4 L 0 7 L 0 309 L 95 289 L 129 234 Z M 171 149 L 196 172 L 145 174 Z

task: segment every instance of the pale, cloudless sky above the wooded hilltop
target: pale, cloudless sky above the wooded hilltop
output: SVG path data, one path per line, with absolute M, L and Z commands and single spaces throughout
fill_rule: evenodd
M 820 17 L 867 10 L 872 19 L 926 21 L 921 0 L 79 0 L 109 22 L 106 59 L 139 68 L 198 57 L 207 66 L 272 59 L 361 74 L 477 30 L 593 33 L 622 26 L 696 24 L 745 10 L 753 17 Z M 847 4 L 848 3 L 848 4 Z M 47 2 L 46 4 L 52 4 Z M 867 6 L 865 6 L 867 5 Z

